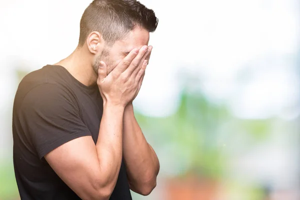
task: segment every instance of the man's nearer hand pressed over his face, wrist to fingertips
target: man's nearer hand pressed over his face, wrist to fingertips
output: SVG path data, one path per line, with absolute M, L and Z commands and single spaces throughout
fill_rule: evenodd
M 108 75 L 105 62 L 100 62 L 97 84 L 104 103 L 126 106 L 136 96 L 148 63 L 147 53 L 146 45 L 134 48 Z

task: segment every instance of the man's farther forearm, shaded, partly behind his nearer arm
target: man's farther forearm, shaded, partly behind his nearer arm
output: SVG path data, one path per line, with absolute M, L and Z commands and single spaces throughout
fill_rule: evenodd
M 128 104 L 124 110 L 123 156 L 128 181 L 132 187 L 156 183 L 159 161 L 134 117 L 132 104 Z

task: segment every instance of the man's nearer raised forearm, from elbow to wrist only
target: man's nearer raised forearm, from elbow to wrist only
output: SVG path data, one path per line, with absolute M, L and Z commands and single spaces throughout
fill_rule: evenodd
M 103 104 L 103 114 L 96 142 L 100 173 L 104 186 L 114 187 L 122 159 L 122 118 L 124 107 Z

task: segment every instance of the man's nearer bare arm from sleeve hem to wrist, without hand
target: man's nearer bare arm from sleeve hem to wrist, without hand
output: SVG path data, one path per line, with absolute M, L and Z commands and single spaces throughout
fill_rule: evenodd
M 122 157 L 123 108 L 104 105 L 99 136 L 71 140 L 45 155 L 57 175 L 82 199 L 108 199 Z

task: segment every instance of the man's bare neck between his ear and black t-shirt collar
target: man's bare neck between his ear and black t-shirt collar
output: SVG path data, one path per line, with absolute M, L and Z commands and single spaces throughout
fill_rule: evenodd
M 90 56 L 87 50 L 84 50 L 84 46 L 81 48 L 77 47 L 69 56 L 54 65 L 63 66 L 79 82 L 90 86 L 96 84 L 97 81 L 97 74 L 92 68 L 90 59 L 88 59 Z

